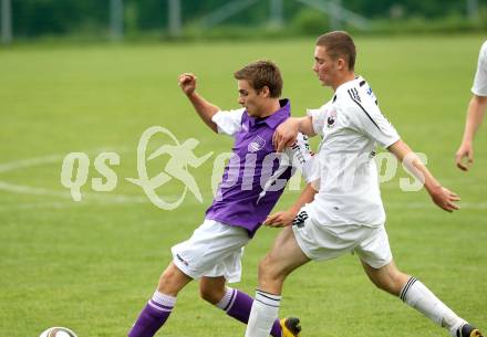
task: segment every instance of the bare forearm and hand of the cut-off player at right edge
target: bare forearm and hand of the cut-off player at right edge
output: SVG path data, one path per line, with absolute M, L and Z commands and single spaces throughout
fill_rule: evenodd
M 474 95 L 468 104 L 464 138 L 462 139 L 462 145 L 455 155 L 456 166 L 464 171 L 468 171 L 474 164 L 474 138 L 481 124 L 486 109 L 487 97 Z M 467 158 L 466 164 L 463 162 L 464 158 Z

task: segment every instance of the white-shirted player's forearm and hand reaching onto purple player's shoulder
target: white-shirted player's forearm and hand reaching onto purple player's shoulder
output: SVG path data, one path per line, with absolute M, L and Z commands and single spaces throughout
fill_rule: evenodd
M 298 133 L 307 136 L 314 136 L 314 129 L 311 117 L 291 117 L 279 125 L 272 137 L 272 144 L 278 152 L 281 152 L 284 147 L 291 146 L 296 143 Z

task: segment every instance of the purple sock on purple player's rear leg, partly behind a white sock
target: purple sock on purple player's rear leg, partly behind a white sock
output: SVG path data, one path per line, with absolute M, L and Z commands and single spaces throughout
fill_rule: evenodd
M 252 297 L 237 289 L 227 288 L 227 293 L 221 301 L 227 302 L 225 307 L 221 307 L 225 312 L 227 312 L 227 315 L 245 324 L 249 322 L 250 310 L 253 303 Z M 282 329 L 281 325 L 279 324 L 279 319 L 276 319 L 273 323 L 270 335 L 272 337 L 281 337 Z

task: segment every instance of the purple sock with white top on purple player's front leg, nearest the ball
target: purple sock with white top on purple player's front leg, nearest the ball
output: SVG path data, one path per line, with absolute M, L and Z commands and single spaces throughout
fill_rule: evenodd
M 169 301 L 159 301 L 159 298 L 163 297 L 168 297 Z M 153 337 L 167 320 L 167 317 L 169 317 L 175 301 L 175 297 L 166 296 L 156 292 L 154 297 L 141 312 L 141 315 L 138 315 L 137 322 L 135 322 L 127 336 Z

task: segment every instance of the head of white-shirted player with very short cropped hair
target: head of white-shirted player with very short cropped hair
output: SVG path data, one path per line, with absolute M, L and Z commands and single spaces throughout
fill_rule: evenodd
M 313 71 L 323 85 L 335 86 L 343 75 L 353 73 L 355 56 L 355 44 L 349 33 L 323 34 L 317 39 Z

